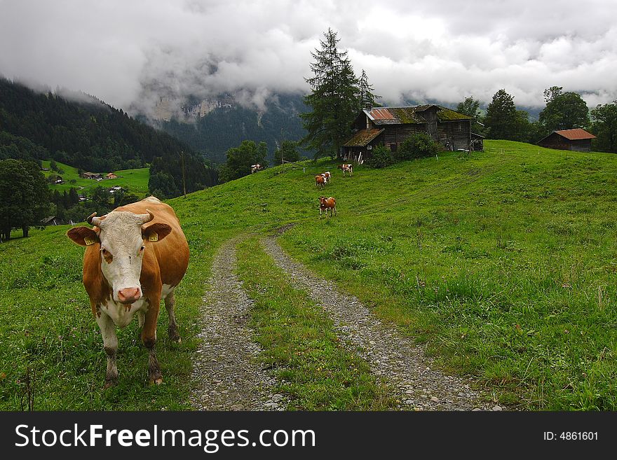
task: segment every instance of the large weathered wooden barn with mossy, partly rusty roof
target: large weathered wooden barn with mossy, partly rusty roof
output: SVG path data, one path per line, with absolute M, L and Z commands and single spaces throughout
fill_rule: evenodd
M 343 146 L 345 160 L 363 161 L 374 146 L 395 151 L 408 137 L 426 132 L 446 150 L 482 150 L 482 136 L 471 132 L 473 117 L 437 105 L 373 107 L 353 122 L 355 134 Z

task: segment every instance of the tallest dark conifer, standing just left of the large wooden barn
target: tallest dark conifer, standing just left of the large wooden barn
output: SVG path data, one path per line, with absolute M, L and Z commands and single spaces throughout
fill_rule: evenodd
M 361 106 L 360 87 L 347 51 L 339 52 L 337 33 L 328 29 L 324 37 L 321 50 L 311 53 L 313 76 L 305 78 L 311 93 L 304 97 L 304 103 L 312 111 L 300 114 L 307 132 L 301 144 L 315 151 L 315 158 L 335 158 L 351 137 L 351 123 Z

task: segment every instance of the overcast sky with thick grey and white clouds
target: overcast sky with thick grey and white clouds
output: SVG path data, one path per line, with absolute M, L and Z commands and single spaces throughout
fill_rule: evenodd
M 129 111 L 161 95 L 306 92 L 331 27 L 389 104 L 543 106 L 552 85 L 617 99 L 615 0 L 0 0 L 0 75 Z

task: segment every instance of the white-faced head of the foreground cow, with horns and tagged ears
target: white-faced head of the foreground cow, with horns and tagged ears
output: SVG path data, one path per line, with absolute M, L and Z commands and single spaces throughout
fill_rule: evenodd
M 101 270 L 116 302 L 129 304 L 142 298 L 140 276 L 146 242 L 156 244 L 171 232 L 170 226 L 164 223 L 143 228 L 144 223 L 152 218 L 151 213 L 112 211 L 107 216 L 91 219 L 93 225 L 100 229 L 99 232 L 85 227 L 67 232 L 69 238 L 78 244 L 100 244 Z

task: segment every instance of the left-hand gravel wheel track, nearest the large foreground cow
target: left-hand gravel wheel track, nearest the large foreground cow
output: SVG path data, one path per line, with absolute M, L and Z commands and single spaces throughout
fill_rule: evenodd
M 275 379 L 256 359 L 261 350 L 247 325 L 252 300 L 233 273 L 237 242 L 226 242 L 212 263 L 190 400 L 197 410 L 283 410 L 285 397 L 273 393 Z

